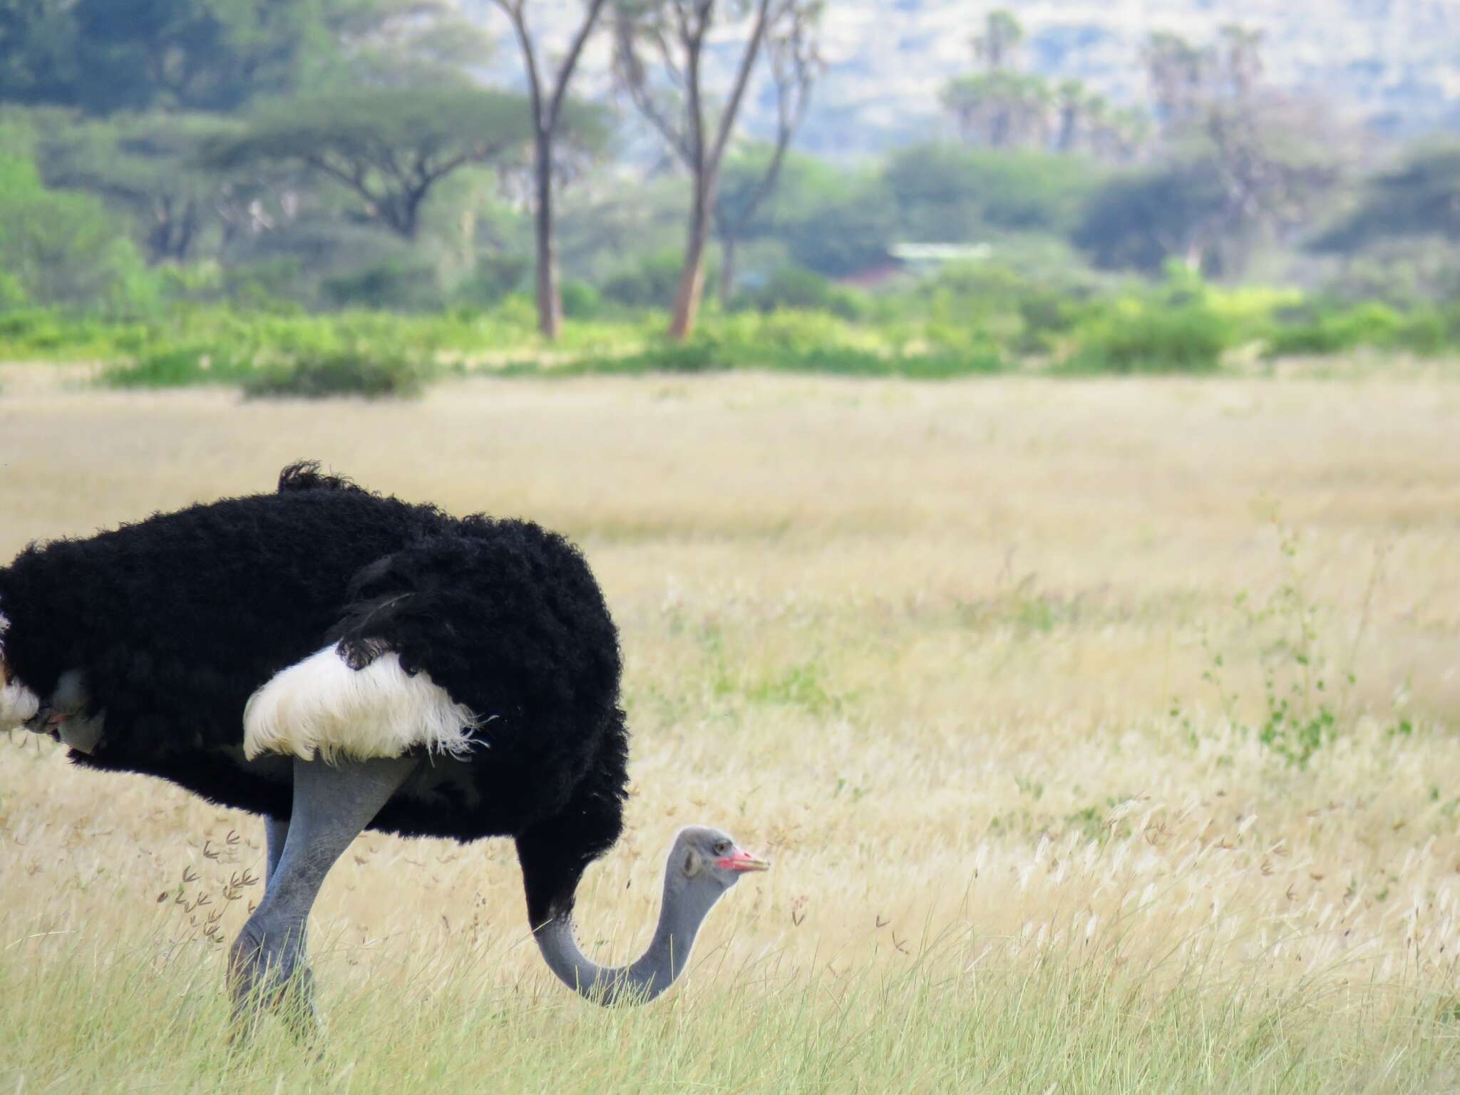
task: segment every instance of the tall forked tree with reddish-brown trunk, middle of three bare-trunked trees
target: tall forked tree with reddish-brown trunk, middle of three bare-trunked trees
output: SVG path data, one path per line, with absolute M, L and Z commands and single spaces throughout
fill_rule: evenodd
M 819 0 L 618 0 L 613 67 L 638 112 L 688 168 L 692 182 L 685 263 L 669 333 L 695 328 L 705 288 L 705 251 L 730 134 L 761 48 L 788 20 Z M 705 86 L 705 45 L 712 32 L 737 25 L 743 45 L 730 89 L 718 104 Z

